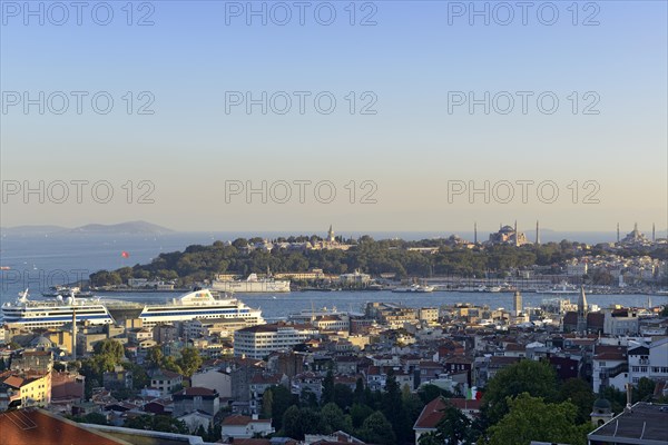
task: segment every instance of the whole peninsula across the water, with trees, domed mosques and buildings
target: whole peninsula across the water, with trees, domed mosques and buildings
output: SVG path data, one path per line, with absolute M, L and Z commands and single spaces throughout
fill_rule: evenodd
M 654 238 L 654 237 L 652 237 Z M 610 286 L 625 275 L 641 286 L 668 284 L 666 240 L 648 239 L 637 228 L 618 243 L 598 244 L 562 240 L 529 243 L 524 234 L 503 226 L 489 240 L 448 238 L 407 241 L 334 236 L 289 236 L 266 239 L 237 238 L 212 245 L 191 245 L 184 251 L 161 253 L 149 264 L 90 275 L 95 287 L 122 286 L 130 279 L 149 279 L 185 287 L 218 276 L 244 277 L 275 274 L 299 280 L 307 275 L 338 276 L 364 273 L 393 279 L 466 277 L 534 279 L 549 277 Z M 318 274 L 315 274 L 318 271 Z M 637 276 L 637 278 L 636 278 Z

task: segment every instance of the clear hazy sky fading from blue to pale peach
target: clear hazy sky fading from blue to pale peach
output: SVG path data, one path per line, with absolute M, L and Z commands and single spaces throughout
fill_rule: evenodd
M 51 3 L 1 2 L 2 226 L 667 226 L 665 1 Z

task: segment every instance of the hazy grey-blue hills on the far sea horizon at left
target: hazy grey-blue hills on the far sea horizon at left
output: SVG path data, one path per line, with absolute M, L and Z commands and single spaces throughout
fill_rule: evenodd
M 67 228 L 60 226 L 17 226 L 0 229 L 7 235 L 164 235 L 174 230 L 146 221 L 120 224 L 88 224 Z

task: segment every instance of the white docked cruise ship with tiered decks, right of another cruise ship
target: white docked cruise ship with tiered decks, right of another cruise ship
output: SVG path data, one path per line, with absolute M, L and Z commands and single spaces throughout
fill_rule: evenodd
M 265 324 L 262 310 L 252 309 L 236 298 L 214 298 L 208 289 L 194 290 L 165 305 L 146 305 L 139 318 L 144 327 L 195 318 L 243 319 L 248 326 Z

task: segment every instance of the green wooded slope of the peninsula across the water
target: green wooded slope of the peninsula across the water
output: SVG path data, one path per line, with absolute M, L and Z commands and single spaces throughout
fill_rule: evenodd
M 279 238 L 276 243 L 318 241 L 316 236 Z M 232 244 L 216 241 L 210 246 L 193 245 L 184 251 L 164 253 L 146 265 L 135 265 L 117 270 L 100 270 L 90 276 L 92 286 L 117 286 L 128 278 L 176 280 L 181 286 L 212 279 L 216 274 L 307 271 L 323 269 L 325 274 L 345 274 L 361 270 L 372 275 L 395 274 L 397 278 L 462 276 L 503 278 L 509 270 L 534 265 L 553 268 L 579 255 L 595 254 L 578 243 L 548 243 L 521 247 L 495 245 L 469 248 L 452 238 L 404 241 L 401 239 L 374 240 L 363 236 L 345 240 L 353 245 L 348 250 L 274 248 L 247 249 L 261 238 L 238 238 Z M 438 248 L 433 254 L 409 250 L 411 247 Z

